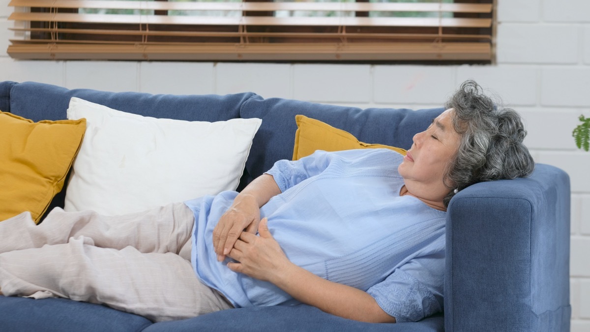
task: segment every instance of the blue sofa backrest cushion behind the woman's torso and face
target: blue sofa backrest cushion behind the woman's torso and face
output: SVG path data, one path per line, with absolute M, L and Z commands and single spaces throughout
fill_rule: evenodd
M 263 99 L 253 96 L 242 106 L 241 118 L 260 118 L 262 125 L 246 162 L 248 183 L 269 170 L 274 162 L 293 157 L 293 145 L 298 114 L 325 122 L 347 131 L 359 141 L 384 144 L 403 149 L 412 146 L 412 136 L 424 131 L 444 109 L 360 109 L 348 106 L 325 105 L 281 98 Z

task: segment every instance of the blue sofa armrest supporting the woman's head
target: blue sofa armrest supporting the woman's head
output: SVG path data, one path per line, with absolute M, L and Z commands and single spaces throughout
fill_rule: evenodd
M 479 183 L 447 214 L 447 331 L 569 331 L 568 175 Z

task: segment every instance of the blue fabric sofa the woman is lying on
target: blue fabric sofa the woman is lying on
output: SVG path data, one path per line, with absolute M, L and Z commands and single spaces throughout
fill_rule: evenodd
M 264 99 L 255 93 L 150 95 L 0 82 L 0 110 L 34 121 L 65 119 L 73 96 L 156 118 L 262 119 L 238 190 L 275 161 L 291 158 L 297 114 L 348 131 L 363 142 L 407 149 L 412 136 L 442 112 L 442 108 L 363 110 Z M 52 206 L 63 206 L 64 191 Z M 236 308 L 154 324 L 144 317 L 85 302 L 0 297 L 0 330 L 568 331 L 569 213 L 569 177 L 550 165 L 537 164 L 529 178 L 480 183 L 458 193 L 451 200 L 446 223 L 444 314 L 417 323 L 359 323 L 296 305 Z

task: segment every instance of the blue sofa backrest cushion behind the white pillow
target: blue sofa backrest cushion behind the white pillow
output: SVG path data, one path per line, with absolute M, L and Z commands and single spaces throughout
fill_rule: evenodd
M 9 84 L 7 84 L 9 85 Z M 0 93 L 2 87 L 0 87 Z M 10 89 L 10 106 L 5 112 L 31 119 L 63 120 L 71 97 L 107 106 L 123 112 L 153 118 L 186 121 L 227 121 L 240 117 L 242 103 L 254 93 L 235 95 L 151 95 L 140 92 L 103 92 L 92 89 L 73 89 L 51 84 L 24 82 Z M 0 96 L 2 99 L 4 96 Z M 2 104 L 0 104 L 1 106 Z

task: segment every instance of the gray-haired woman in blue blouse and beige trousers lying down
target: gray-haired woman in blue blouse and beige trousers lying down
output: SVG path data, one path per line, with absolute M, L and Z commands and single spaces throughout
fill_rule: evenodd
M 241 193 L 117 217 L 55 209 L 39 226 L 20 214 L 0 223 L 0 290 L 155 321 L 300 302 L 355 320 L 420 320 L 442 311 L 454 194 L 533 171 L 514 110 L 473 81 L 446 108 L 405 156 L 316 151 L 276 162 Z

